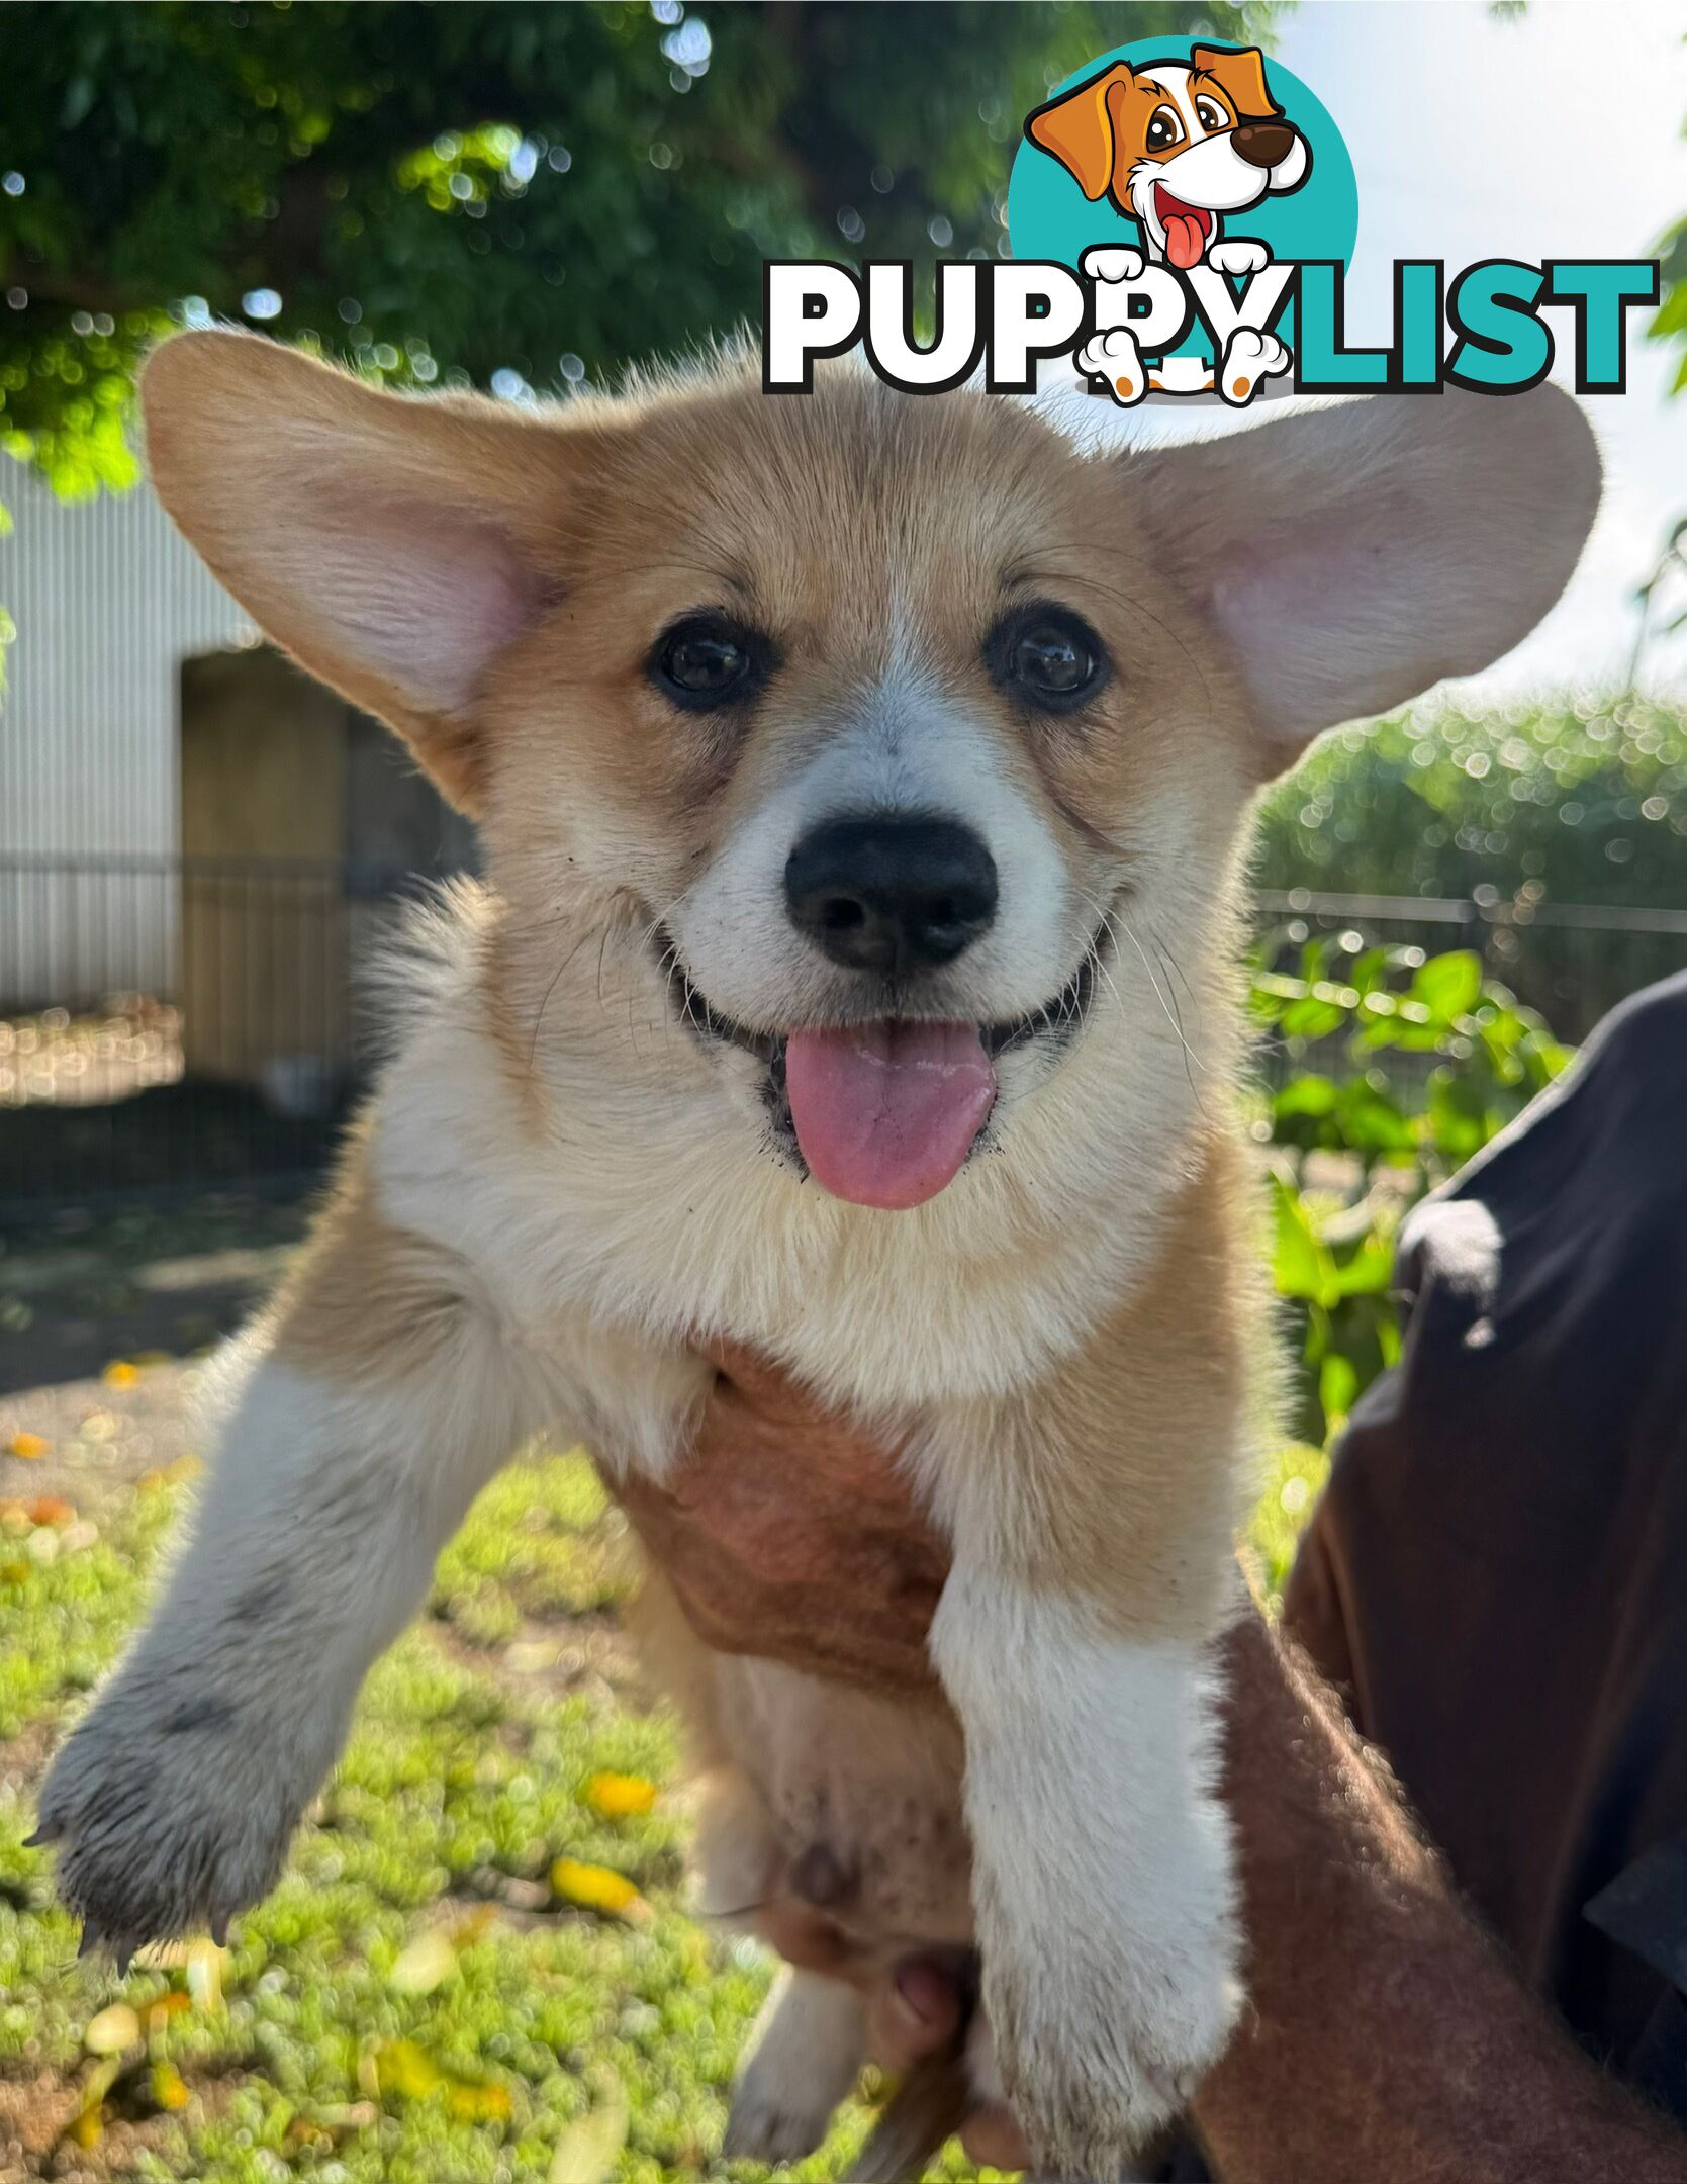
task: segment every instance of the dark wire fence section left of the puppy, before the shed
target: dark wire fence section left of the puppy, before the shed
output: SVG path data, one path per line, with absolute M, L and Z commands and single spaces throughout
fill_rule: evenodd
M 406 871 L 0 858 L 0 1223 L 325 1166 Z

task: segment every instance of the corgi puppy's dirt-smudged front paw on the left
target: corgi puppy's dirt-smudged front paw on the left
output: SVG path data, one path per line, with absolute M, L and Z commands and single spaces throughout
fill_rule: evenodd
M 273 1725 L 214 1690 L 113 1684 L 52 1762 L 37 1821 L 83 1952 L 105 1944 L 122 1963 L 142 1942 L 220 1935 L 275 1885 L 314 1787 Z

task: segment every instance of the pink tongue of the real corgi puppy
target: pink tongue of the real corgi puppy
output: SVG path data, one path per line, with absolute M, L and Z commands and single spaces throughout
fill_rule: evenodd
M 954 1182 L 995 1099 L 973 1024 L 792 1031 L 786 1092 L 818 1184 L 856 1206 L 921 1206 Z

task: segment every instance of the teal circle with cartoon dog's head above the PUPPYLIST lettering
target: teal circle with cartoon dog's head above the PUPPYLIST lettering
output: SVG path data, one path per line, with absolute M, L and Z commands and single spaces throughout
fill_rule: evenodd
M 1098 55 L 1028 116 L 1008 177 L 1013 256 L 1074 271 L 1100 245 L 1187 271 L 1235 238 L 1347 266 L 1357 232 L 1329 109 L 1281 61 L 1213 39 Z

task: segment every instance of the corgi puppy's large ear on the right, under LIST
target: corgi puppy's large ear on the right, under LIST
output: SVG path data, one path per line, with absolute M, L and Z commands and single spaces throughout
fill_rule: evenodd
M 1587 417 L 1547 384 L 1375 395 L 1115 461 L 1240 670 L 1261 780 L 1508 653 L 1600 505 Z

